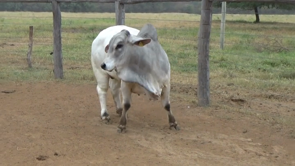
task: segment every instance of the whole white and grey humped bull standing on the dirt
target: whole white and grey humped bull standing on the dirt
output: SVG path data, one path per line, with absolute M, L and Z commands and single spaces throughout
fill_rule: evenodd
M 97 80 L 101 119 L 111 119 L 106 108 L 110 87 L 117 113 L 121 116 L 118 133 L 126 129 L 131 93 L 148 94 L 152 100 L 161 97 L 170 128 L 180 130 L 170 108 L 170 63 L 151 24 L 140 31 L 127 26 L 102 30 L 92 42 L 91 64 Z M 124 108 L 119 96 L 120 87 Z

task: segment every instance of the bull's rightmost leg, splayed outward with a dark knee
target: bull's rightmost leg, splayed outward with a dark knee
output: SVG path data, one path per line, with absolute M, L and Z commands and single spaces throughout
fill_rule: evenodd
M 170 107 L 170 84 L 162 88 L 161 101 L 164 109 L 167 111 L 170 129 L 180 130 Z

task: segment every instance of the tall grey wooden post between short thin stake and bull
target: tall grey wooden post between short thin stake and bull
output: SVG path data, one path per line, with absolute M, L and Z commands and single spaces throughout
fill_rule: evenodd
M 63 79 L 62 69 L 62 48 L 61 48 L 61 13 L 60 3 L 57 1 L 52 2 L 53 12 L 53 38 L 54 38 L 54 76 L 56 79 Z

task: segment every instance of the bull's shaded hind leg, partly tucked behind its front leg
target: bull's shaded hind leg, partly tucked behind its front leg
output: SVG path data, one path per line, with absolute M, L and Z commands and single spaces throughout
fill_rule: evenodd
M 122 104 L 120 99 L 120 86 L 121 82 L 116 79 L 110 79 L 110 89 L 113 95 L 113 99 L 116 105 L 116 112 L 119 116 L 122 116 Z

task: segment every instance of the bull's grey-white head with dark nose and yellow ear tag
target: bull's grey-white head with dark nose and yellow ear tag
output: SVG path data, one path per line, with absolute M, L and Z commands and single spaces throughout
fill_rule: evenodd
M 110 43 L 105 47 L 107 57 L 104 59 L 100 67 L 106 71 L 113 71 L 117 68 L 118 63 L 124 57 L 126 47 L 143 47 L 151 41 L 150 38 L 142 38 L 132 35 L 128 30 L 121 30 L 114 35 Z

